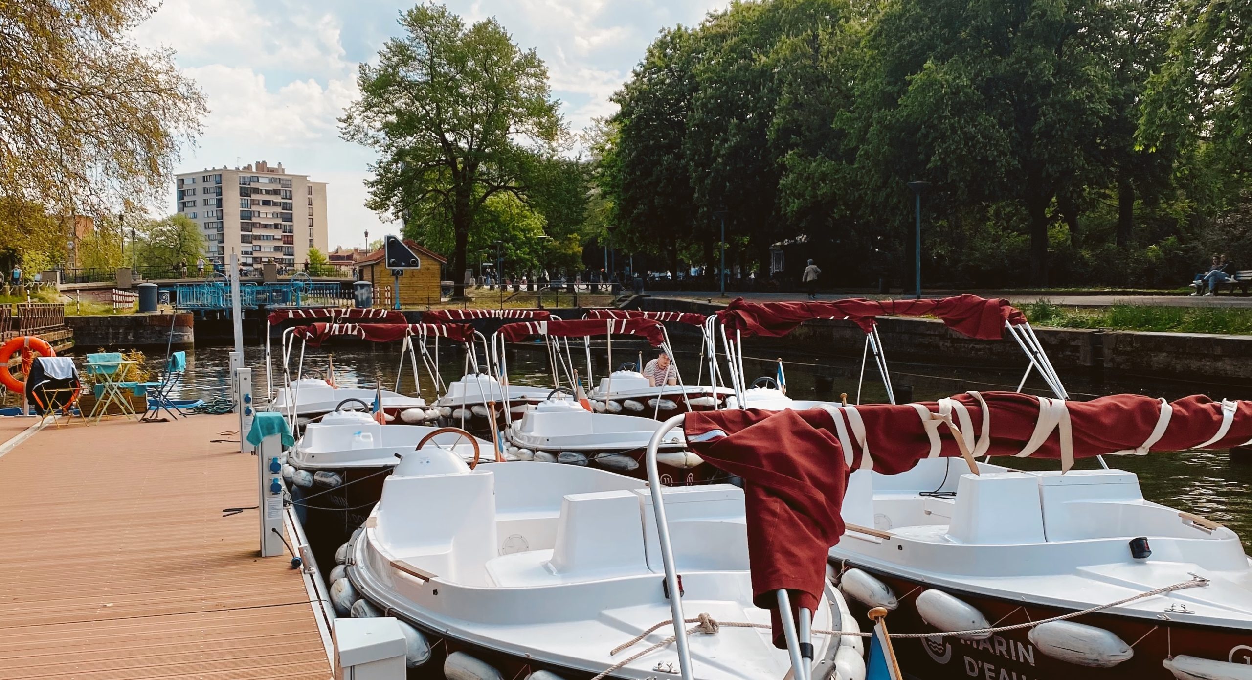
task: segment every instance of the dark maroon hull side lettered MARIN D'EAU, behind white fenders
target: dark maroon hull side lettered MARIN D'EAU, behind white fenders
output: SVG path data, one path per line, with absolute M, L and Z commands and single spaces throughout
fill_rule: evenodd
M 920 581 L 874 571 L 899 599 L 899 607 L 888 616 L 893 634 L 933 632 L 935 629 L 918 614 L 916 596 L 930 587 Z M 835 564 L 840 569 L 840 564 Z M 954 589 L 939 589 L 978 609 L 993 627 L 1039 621 L 1070 610 L 1034 602 L 989 597 Z M 849 607 L 861 621 L 865 606 L 849 599 Z M 1089 614 L 1074 622 L 1108 630 L 1121 637 L 1134 655 L 1112 667 L 1090 667 L 1053 659 L 1029 637 L 1029 629 L 998 632 L 984 640 L 955 636 L 898 640 L 894 645 L 905 675 L 919 680 L 1174 680 L 1163 665 L 1172 656 L 1188 655 L 1236 664 L 1252 662 L 1252 631 L 1187 624 L 1186 614 L 1166 614 L 1162 619 L 1142 619 L 1111 614 Z

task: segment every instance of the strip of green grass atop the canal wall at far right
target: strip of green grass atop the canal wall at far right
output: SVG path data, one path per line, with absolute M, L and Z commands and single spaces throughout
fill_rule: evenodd
M 1022 306 L 1025 318 L 1038 327 L 1108 328 L 1163 333 L 1252 334 L 1252 309 L 1224 307 L 1062 307 L 1045 301 Z

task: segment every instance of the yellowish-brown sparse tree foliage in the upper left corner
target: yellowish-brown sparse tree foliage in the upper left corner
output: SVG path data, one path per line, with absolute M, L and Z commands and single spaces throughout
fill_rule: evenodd
M 131 29 L 150 0 L 0 3 L 0 195 L 106 212 L 164 185 L 207 111 L 170 50 Z

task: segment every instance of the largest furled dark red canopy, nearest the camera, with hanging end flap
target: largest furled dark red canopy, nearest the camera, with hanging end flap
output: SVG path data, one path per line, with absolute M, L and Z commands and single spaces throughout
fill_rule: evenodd
M 1187 448 L 1226 448 L 1252 440 L 1252 402 L 1176 402 L 1116 394 L 1065 402 L 1017 392 L 968 392 L 939 402 L 808 411 L 727 410 L 686 413 L 687 445 L 709 463 L 744 478 L 747 549 L 757 606 L 777 589 L 795 607 L 821 596 L 826 551 L 844 532 L 848 476 L 886 475 L 933 456 L 959 456 L 950 418 L 974 456 L 1073 458 Z M 938 428 L 935 427 L 938 426 Z M 775 642 L 780 627 L 775 611 Z

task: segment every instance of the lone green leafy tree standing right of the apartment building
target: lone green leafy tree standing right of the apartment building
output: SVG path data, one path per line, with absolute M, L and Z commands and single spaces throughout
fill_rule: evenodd
M 451 228 L 453 277 L 467 265 L 483 205 L 525 197 L 565 131 L 547 68 L 495 19 L 466 26 L 441 5 L 401 15 L 404 34 L 362 64 L 344 139 L 376 149 L 368 205 L 429 229 Z

